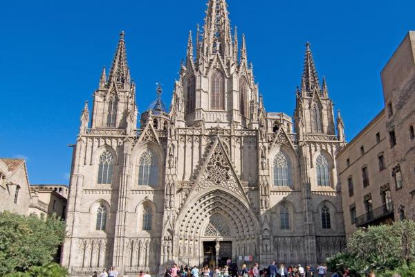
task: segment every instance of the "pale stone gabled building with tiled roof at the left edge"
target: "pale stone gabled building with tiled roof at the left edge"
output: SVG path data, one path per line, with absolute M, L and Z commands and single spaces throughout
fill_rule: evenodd
M 26 161 L 0 158 L 0 212 L 28 215 L 30 200 Z

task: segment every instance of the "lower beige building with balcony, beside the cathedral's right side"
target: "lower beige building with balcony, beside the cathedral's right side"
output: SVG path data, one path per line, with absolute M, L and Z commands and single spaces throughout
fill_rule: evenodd
M 338 154 L 346 234 L 394 219 L 387 168 L 389 148 L 385 110 Z

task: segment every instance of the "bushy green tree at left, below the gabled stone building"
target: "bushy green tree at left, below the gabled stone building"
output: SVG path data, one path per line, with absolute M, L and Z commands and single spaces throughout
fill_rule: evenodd
M 47 265 L 64 237 L 65 224 L 56 217 L 0 213 L 0 276 Z

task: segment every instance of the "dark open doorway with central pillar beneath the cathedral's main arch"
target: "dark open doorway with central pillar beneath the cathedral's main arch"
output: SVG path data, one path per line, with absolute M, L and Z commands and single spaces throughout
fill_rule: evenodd
M 232 258 L 232 242 L 203 242 L 203 266 L 223 267 L 228 258 Z

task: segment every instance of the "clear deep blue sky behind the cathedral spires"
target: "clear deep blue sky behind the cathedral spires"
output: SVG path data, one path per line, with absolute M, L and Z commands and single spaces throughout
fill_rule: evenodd
M 84 100 L 111 65 L 118 33 L 137 83 L 140 112 L 156 82 L 170 102 L 187 33 L 203 24 L 207 0 L 1 1 L 0 157 L 26 157 L 32 184 L 68 184 Z M 326 76 L 347 139 L 380 109 L 380 71 L 408 30 L 415 1 L 228 0 L 232 26 L 246 33 L 248 59 L 267 111 L 292 115 L 304 44 Z

